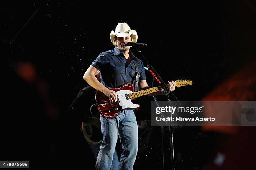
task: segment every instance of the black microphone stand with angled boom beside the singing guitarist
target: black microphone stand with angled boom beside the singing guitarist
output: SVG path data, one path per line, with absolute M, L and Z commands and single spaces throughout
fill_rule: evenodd
M 153 70 L 153 72 L 154 72 L 154 74 L 159 78 L 159 80 L 164 84 L 164 86 L 166 87 L 166 89 L 168 89 L 167 91 L 167 93 L 166 93 L 166 96 L 167 96 L 167 98 L 168 98 L 168 102 L 170 102 L 171 100 L 170 100 L 170 96 L 169 96 L 169 94 L 170 93 L 172 93 L 172 95 L 176 98 L 176 100 L 179 102 L 179 100 L 177 99 L 177 97 L 173 94 L 173 92 L 171 92 L 170 90 L 169 90 L 169 86 L 168 85 L 166 85 L 166 83 L 164 82 L 164 80 L 160 77 L 160 75 L 156 72 L 156 70 L 154 69 L 154 67 L 148 62 L 148 60 L 146 59 L 146 57 L 142 54 L 142 52 L 141 52 L 141 50 L 140 50 L 140 47 L 139 46 L 135 46 L 136 47 L 136 50 L 137 50 L 137 52 L 143 57 L 143 59 L 147 62 L 147 66 L 151 69 L 151 70 Z M 152 80 L 152 86 L 153 86 L 153 82 L 154 82 L 154 79 Z M 155 100 L 155 102 L 156 102 L 156 105 L 158 105 L 159 106 L 159 104 L 158 104 L 158 102 L 157 102 L 157 100 L 156 100 L 156 98 L 153 96 L 153 98 L 154 98 L 154 100 Z M 161 113 L 161 116 L 163 116 L 162 115 L 162 113 Z M 172 117 L 172 114 L 171 114 L 171 117 Z M 171 121 L 171 128 L 172 128 L 172 121 Z M 173 147 L 173 131 L 172 130 L 170 130 L 170 127 L 169 127 L 169 131 L 171 131 L 172 133 L 170 134 L 170 145 L 171 145 L 171 148 L 172 148 L 172 158 L 173 158 L 173 162 L 172 162 L 172 169 L 173 170 L 175 170 L 175 164 L 174 164 L 174 147 Z M 163 157 L 163 170 L 164 170 L 164 126 L 161 126 L 161 135 L 162 135 L 162 157 Z M 172 137 L 172 139 L 171 139 L 171 137 Z

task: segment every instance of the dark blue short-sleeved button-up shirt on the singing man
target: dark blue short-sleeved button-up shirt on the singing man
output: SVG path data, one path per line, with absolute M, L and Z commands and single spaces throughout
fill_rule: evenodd
M 92 66 L 100 70 L 100 79 L 105 87 L 120 87 L 126 83 L 135 85 L 135 64 L 138 61 L 139 80 L 146 80 L 143 62 L 129 51 L 132 61 L 126 65 L 126 58 L 117 47 L 113 50 L 100 53 L 100 55 L 92 62 Z

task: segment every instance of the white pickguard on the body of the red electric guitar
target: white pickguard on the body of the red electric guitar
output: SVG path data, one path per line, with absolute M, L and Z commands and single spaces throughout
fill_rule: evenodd
M 118 95 L 118 98 L 119 98 L 119 101 L 120 101 L 119 104 L 120 104 L 120 106 L 122 106 L 123 109 L 125 109 L 125 108 L 135 109 L 135 108 L 138 108 L 140 106 L 138 104 L 133 104 L 131 102 L 130 98 L 128 100 L 126 99 L 125 94 L 128 95 L 130 93 L 132 93 L 132 91 L 130 91 L 130 90 L 120 90 L 120 91 L 116 92 L 116 95 Z

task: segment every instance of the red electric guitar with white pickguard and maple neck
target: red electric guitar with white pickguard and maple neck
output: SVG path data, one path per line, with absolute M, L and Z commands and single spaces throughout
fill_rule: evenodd
M 176 87 L 181 87 L 185 85 L 192 85 L 192 81 L 187 80 L 176 80 Z M 133 99 L 141 97 L 143 95 L 148 95 L 153 92 L 158 92 L 161 90 L 165 90 L 164 86 L 152 87 L 146 90 L 141 90 L 138 92 L 134 92 L 135 87 L 133 84 L 128 83 L 123 85 L 120 88 L 109 88 L 110 90 L 115 91 L 118 100 L 114 102 L 112 99 L 104 95 L 104 93 L 97 90 L 95 94 L 95 103 L 98 107 L 100 114 L 103 117 L 112 119 L 118 116 L 124 110 L 136 110 L 140 107 L 138 104 L 132 103 Z

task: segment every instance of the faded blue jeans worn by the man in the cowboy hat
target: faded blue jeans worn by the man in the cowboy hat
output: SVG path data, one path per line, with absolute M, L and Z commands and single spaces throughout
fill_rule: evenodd
M 125 110 L 113 119 L 100 117 L 102 143 L 96 170 L 110 170 L 115 145 L 120 138 L 122 154 L 118 170 L 132 170 L 138 151 L 138 125 L 133 110 Z

